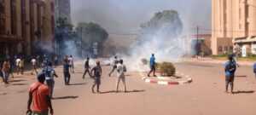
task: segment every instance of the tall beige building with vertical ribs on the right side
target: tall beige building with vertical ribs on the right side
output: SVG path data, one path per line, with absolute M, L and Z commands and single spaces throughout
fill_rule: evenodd
M 219 55 L 238 45 L 256 54 L 256 1 L 212 0 L 212 54 Z

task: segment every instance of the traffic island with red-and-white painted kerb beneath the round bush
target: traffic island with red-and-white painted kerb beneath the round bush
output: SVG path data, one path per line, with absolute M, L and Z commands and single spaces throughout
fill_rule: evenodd
M 159 73 L 157 73 L 159 74 Z M 183 73 L 177 72 L 175 76 L 173 77 L 163 77 L 163 76 L 157 76 L 157 77 L 145 77 L 143 73 L 142 80 L 145 83 L 157 83 L 160 85 L 183 85 L 193 82 L 193 78 L 191 78 L 189 75 L 185 75 Z

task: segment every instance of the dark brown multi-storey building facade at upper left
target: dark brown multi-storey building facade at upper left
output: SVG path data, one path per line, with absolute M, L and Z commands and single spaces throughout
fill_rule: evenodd
M 32 55 L 53 35 L 52 0 L 0 0 L 0 55 Z

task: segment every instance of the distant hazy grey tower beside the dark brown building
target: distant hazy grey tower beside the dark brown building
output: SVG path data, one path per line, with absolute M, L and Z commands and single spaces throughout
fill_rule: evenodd
M 55 22 L 60 18 L 67 19 L 67 23 L 71 23 L 70 0 L 55 0 Z

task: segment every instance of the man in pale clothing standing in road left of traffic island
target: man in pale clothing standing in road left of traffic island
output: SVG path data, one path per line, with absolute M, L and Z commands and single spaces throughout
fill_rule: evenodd
M 123 82 L 125 85 L 125 92 L 126 90 L 126 83 L 125 83 L 125 72 L 126 72 L 126 66 L 123 64 L 123 60 L 119 60 L 119 64 L 117 65 L 117 83 L 116 83 L 116 92 L 119 92 L 119 83 L 120 81 Z

